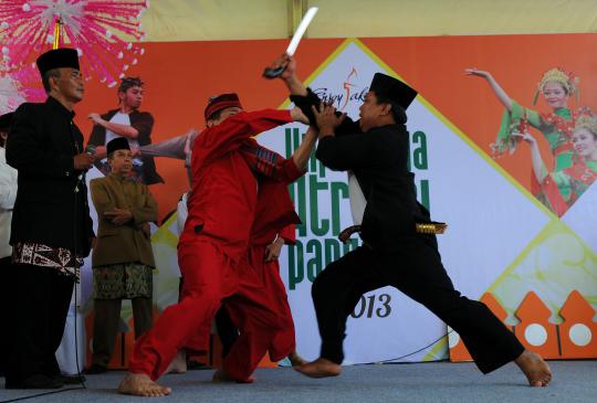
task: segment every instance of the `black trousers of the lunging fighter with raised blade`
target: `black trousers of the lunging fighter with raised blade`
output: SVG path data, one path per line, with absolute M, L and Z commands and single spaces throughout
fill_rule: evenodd
M 434 236 L 420 235 L 401 240 L 391 253 L 360 246 L 329 264 L 315 278 L 312 296 L 322 358 L 342 363 L 349 312 L 363 294 L 388 285 L 422 304 L 454 329 L 483 373 L 496 370 L 524 351 L 484 304 L 454 289 L 441 264 Z

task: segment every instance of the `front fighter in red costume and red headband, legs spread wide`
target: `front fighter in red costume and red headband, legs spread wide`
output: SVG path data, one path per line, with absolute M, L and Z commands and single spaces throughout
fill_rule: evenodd
M 268 291 L 262 271 L 251 265 L 253 256 L 248 251 L 258 199 L 269 192 L 270 180 L 285 185 L 304 173 L 316 134 L 312 131 L 292 158 L 280 159 L 252 137 L 291 121 L 306 121 L 297 108 L 244 113 L 235 94 L 224 94 L 210 100 L 205 116 L 207 129 L 192 149 L 189 216 L 178 244 L 182 297 L 135 343 L 121 393 L 169 394 L 171 390 L 155 380 L 189 340 L 209 332 L 223 299 L 241 331 L 223 362 L 220 375 L 226 379 L 250 382 L 285 326 L 276 311 L 275 293 Z M 271 188 L 275 191 L 277 185 Z M 268 214 L 282 227 L 297 220 L 286 198 L 287 192 L 265 198 L 272 200 Z

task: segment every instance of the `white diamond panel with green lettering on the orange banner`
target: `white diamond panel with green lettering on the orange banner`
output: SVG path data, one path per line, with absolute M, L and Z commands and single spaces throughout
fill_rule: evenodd
M 400 77 L 362 42 L 347 41 L 307 82 L 322 99 L 333 102 L 338 109 L 356 119 L 358 106 L 375 72 Z M 410 166 L 417 178 L 418 198 L 430 209 L 436 220 L 450 224 L 448 235 L 440 236 L 440 247 L 444 265 L 458 288 L 464 295 L 478 299 L 491 287 L 498 297 L 507 293 L 505 296 L 511 303 L 520 303 L 528 289 L 534 289 L 546 304 L 554 307 L 562 307 L 572 290 L 583 289 L 583 282 L 587 278 L 575 283 L 568 277 L 572 273 L 568 273 L 559 277 L 568 280 L 557 284 L 559 289 L 554 291 L 552 288 L 555 284 L 551 283 L 558 282 L 543 278 L 536 273 L 536 266 L 533 271 L 540 279 L 540 287 L 528 287 L 535 283 L 533 274 L 527 275 L 527 282 L 519 286 L 509 284 L 511 279 L 507 277 L 496 282 L 495 275 L 516 261 L 524 250 L 523 245 L 540 246 L 541 243 L 535 238 L 542 229 L 549 227 L 551 220 L 554 223 L 559 221 L 441 116 L 422 94 L 409 107 L 408 113 Z M 260 141 L 277 150 L 285 144 L 286 157 L 290 157 L 290 150 L 298 144 L 298 135 L 305 130 L 285 128 L 285 136 L 282 136 L 281 129 L 276 129 L 260 136 Z M 454 156 L 458 158 L 450 158 Z M 307 177 L 291 188 L 305 225 L 297 229 L 297 246 L 289 250 L 285 280 L 298 329 L 298 350 L 306 357 L 316 357 L 318 352 L 318 335 L 304 331 L 315 320 L 310 298 L 311 283 L 322 267 L 356 245 L 355 240 L 352 245 L 342 246 L 335 238 L 339 230 L 352 224 L 345 183 L 345 173 L 331 172 L 312 160 Z M 580 202 L 586 208 L 582 208 Z M 574 208 L 586 218 L 593 213 L 590 205 L 594 204 L 588 193 Z M 580 224 L 585 221 L 575 222 Z M 483 231 L 481 229 L 491 229 L 491 236 L 480 236 L 480 231 Z M 568 236 L 564 245 L 577 246 L 577 243 Z M 554 246 L 551 245 L 552 248 Z M 578 247 L 573 250 L 575 254 L 578 253 Z M 576 265 L 573 267 L 575 271 L 589 267 L 595 269 L 595 259 L 590 259 L 595 257 L 594 251 L 584 248 L 580 256 L 583 261 L 588 257 L 588 264 Z M 562 263 L 551 264 L 557 267 Z M 400 267 L 397 263 L 396 269 L 408 267 Z M 595 290 L 594 282 L 588 285 L 591 288 L 585 289 L 584 295 L 591 295 L 590 291 Z M 524 293 L 517 300 L 512 298 L 514 288 Z M 514 311 L 514 306 L 507 306 L 507 303 L 504 305 Z M 407 326 L 397 326 L 397 321 Z M 444 325 L 426 308 L 396 289 L 383 288 L 365 295 L 349 318 L 345 362 L 377 362 L 395 358 L 398 361 L 440 359 L 446 354 L 441 344 L 436 344 L 431 350 L 419 350 L 441 339 L 444 333 Z M 458 335 L 452 332 L 450 338 L 458 340 Z

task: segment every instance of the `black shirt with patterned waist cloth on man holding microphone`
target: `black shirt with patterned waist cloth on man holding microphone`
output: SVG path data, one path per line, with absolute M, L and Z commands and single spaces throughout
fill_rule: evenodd
M 83 150 L 74 113 L 49 97 L 22 104 L 7 142 L 7 162 L 19 171 L 12 215 L 13 261 L 76 275 L 77 257 L 93 236 L 84 172 L 73 157 Z

